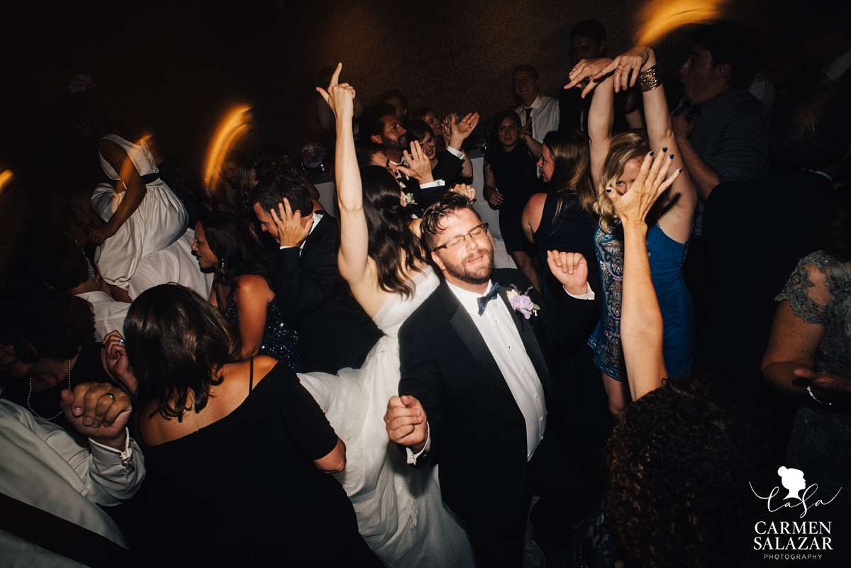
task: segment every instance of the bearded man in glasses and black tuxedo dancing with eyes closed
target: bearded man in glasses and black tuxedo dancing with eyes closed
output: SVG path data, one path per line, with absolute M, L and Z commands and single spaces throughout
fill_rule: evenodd
M 408 463 L 440 463 L 443 501 L 465 520 L 477 565 L 519 566 L 533 492 L 577 482 L 547 430 L 557 412 L 547 413 L 540 342 L 591 332 L 588 266 L 578 253 L 552 255 L 566 293 L 547 305 L 518 270 L 493 270 L 494 242 L 464 196 L 443 196 L 420 227 L 445 280 L 399 332 L 401 396 L 388 404 L 387 432 Z

